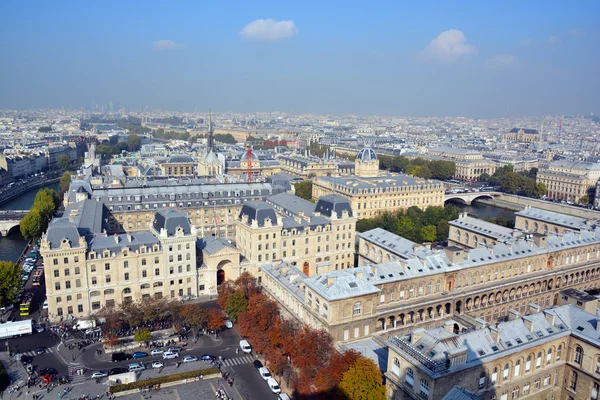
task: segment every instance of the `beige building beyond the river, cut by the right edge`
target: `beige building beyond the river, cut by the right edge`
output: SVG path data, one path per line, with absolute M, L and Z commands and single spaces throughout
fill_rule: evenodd
M 591 198 L 590 191 L 600 179 L 600 164 L 559 160 L 540 169 L 536 181 L 548 188 L 548 198 L 577 203 L 582 197 Z

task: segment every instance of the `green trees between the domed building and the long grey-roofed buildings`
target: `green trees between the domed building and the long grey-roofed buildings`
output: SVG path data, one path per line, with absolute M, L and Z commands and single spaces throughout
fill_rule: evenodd
M 384 213 L 375 218 L 359 219 L 357 232 L 382 228 L 415 243 L 446 241 L 450 227 L 448 221 L 458 218 L 458 209 L 452 204 L 429 206 L 425 211 L 412 206 L 406 211 Z

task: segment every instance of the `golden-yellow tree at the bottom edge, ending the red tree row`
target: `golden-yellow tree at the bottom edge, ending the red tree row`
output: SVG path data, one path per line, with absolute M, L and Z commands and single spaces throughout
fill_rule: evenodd
M 384 400 L 385 387 L 379 368 L 370 359 L 360 357 L 344 373 L 338 393 L 348 400 Z

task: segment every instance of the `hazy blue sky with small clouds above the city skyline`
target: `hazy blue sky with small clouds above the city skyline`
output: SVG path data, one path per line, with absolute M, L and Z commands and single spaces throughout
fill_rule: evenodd
M 0 108 L 600 112 L 595 1 L 3 1 Z

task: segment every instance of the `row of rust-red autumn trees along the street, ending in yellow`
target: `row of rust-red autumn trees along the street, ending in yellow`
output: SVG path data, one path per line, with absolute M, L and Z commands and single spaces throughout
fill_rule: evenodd
M 354 350 L 339 353 L 327 331 L 283 318 L 249 273 L 225 282 L 218 292 L 219 305 L 237 322 L 240 334 L 264 355 L 271 373 L 294 389 L 296 398 L 385 398 L 373 361 Z

